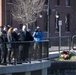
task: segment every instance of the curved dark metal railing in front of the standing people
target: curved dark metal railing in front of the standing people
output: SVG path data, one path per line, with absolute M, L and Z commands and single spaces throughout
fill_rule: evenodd
M 1 42 L 0 43 L 1 64 L 26 63 L 25 60 L 26 56 L 28 59 L 27 62 L 30 63 L 31 61 L 35 60 L 42 61 L 43 59 L 47 59 L 49 55 L 48 42 L 49 40 L 42 40 L 39 42 L 35 41 Z

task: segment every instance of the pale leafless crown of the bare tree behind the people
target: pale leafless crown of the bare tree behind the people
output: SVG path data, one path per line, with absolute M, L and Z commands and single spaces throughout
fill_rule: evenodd
M 43 9 L 45 0 L 13 0 L 12 15 L 18 23 L 34 22 Z

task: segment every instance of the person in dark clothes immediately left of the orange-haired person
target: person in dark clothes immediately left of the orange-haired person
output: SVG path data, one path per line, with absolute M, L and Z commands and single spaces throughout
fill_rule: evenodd
M 8 40 L 7 40 L 7 27 L 6 26 L 4 26 L 4 28 L 3 28 L 3 30 L 2 30 L 2 38 L 3 38 L 3 42 L 5 42 L 5 43 L 3 43 L 3 45 L 2 45 L 2 61 L 1 61 L 1 63 L 7 63 L 7 42 L 8 42 Z

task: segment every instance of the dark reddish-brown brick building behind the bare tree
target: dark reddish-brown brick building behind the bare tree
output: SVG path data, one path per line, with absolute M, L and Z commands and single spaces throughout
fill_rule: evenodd
M 11 15 L 12 0 L 0 0 L 2 9 L 2 24 L 10 24 L 13 27 L 20 28 L 20 25 L 13 20 Z M 47 34 L 46 36 L 53 37 L 59 35 L 59 23 L 62 21 L 61 34 L 62 36 L 74 35 L 76 32 L 76 1 L 75 0 L 46 0 L 44 9 L 40 13 L 42 18 L 38 17 L 37 21 L 29 25 L 29 28 L 34 31 L 36 26 Z M 48 34 L 49 33 L 49 34 Z

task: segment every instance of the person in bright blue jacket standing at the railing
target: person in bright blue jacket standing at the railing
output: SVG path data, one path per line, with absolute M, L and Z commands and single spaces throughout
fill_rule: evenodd
M 33 33 L 33 37 L 34 37 L 34 57 L 37 58 L 41 58 L 41 50 L 42 50 L 42 45 L 41 45 L 41 40 L 44 36 L 44 33 L 41 31 L 40 27 L 37 26 L 35 32 Z

